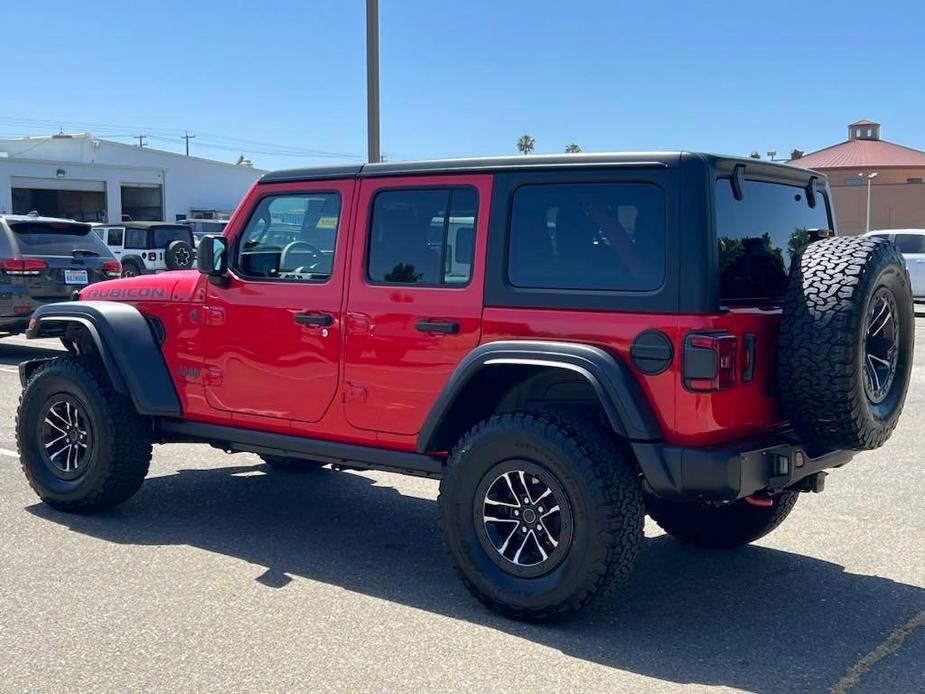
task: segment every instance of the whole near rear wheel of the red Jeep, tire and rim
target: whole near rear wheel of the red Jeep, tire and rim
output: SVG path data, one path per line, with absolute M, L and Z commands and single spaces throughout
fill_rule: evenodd
M 627 578 L 642 539 L 630 454 L 602 428 L 556 414 L 471 429 L 450 454 L 439 505 L 463 582 L 515 619 L 578 611 Z

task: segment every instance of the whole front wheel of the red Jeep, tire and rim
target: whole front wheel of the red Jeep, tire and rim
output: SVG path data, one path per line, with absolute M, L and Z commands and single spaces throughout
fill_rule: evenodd
M 32 489 L 61 511 L 122 503 L 151 461 L 149 420 L 88 357 L 58 357 L 35 370 L 20 396 L 16 440 Z

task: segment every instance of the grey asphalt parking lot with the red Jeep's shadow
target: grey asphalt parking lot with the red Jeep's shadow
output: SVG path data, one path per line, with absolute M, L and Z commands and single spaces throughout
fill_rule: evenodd
M 0 691 L 913 692 L 925 689 L 925 318 L 889 444 L 730 552 L 654 526 L 630 585 L 556 626 L 507 621 L 456 580 L 436 483 L 271 472 L 155 451 L 98 516 L 19 470 L 0 340 Z

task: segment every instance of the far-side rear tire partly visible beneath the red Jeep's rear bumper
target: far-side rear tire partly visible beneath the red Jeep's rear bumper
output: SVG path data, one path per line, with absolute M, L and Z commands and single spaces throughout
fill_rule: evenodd
M 773 497 L 772 506 L 755 506 L 745 499 L 719 507 L 650 499 L 648 511 L 662 530 L 681 542 L 730 549 L 754 542 L 777 528 L 799 496 L 799 492 L 781 492 Z

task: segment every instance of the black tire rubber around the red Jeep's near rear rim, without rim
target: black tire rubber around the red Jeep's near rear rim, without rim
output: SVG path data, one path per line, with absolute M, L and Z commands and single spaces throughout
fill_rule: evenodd
M 574 518 L 570 545 L 547 573 L 512 575 L 479 539 L 474 504 L 495 466 L 527 460 L 564 490 Z M 440 483 L 444 544 L 463 583 L 489 608 L 527 621 L 577 612 L 632 571 L 642 541 L 643 494 L 629 449 L 611 432 L 555 412 L 490 417 L 456 444 Z

